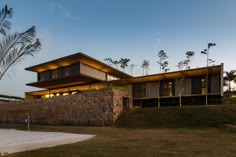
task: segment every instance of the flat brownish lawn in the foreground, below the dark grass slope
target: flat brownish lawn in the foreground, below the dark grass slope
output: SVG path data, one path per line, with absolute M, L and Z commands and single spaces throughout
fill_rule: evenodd
M 9 157 L 225 157 L 236 154 L 236 132 L 225 128 L 127 129 L 34 126 L 38 131 L 96 134 L 93 139 Z

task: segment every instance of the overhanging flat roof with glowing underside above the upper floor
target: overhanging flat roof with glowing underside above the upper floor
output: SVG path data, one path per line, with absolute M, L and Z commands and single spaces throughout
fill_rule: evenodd
M 87 64 L 93 68 L 99 69 L 103 72 L 106 72 L 108 74 L 111 74 L 113 76 L 119 77 L 119 78 L 131 78 L 132 76 L 129 74 L 126 74 L 118 69 L 115 69 L 101 61 L 96 60 L 95 58 L 92 58 L 82 52 L 75 53 L 69 56 L 65 56 L 62 58 L 58 58 L 55 60 L 51 60 L 42 64 L 34 65 L 28 68 L 25 68 L 25 70 L 32 71 L 32 72 L 42 72 L 46 70 L 53 70 L 57 69 L 59 67 L 64 67 L 71 65 L 73 63 L 81 62 L 83 64 Z

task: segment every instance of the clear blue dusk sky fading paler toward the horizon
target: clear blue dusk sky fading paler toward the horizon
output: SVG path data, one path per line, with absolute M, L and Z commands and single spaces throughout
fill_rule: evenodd
M 0 81 L 0 94 L 24 96 L 36 90 L 25 86 L 36 75 L 24 68 L 84 52 L 103 61 L 130 58 L 142 75 L 142 61 L 150 62 L 149 74 L 158 73 L 157 53 L 165 50 L 169 69 L 194 51 L 191 68 L 206 65 L 200 51 L 209 42 L 215 64 L 236 69 L 235 0 L 1 0 L 13 8 L 12 32 L 35 25 L 42 50 L 11 68 Z M 129 73 L 129 71 L 127 70 Z

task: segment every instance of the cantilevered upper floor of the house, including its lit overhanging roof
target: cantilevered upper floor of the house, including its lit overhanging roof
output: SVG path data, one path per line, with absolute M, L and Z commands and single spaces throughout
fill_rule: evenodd
M 132 77 L 81 52 L 28 67 L 26 70 L 37 73 L 37 82 L 27 85 L 46 89 Z

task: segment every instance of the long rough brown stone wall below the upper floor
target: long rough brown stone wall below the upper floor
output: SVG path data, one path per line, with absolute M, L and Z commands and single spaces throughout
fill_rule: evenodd
M 0 121 L 23 121 L 29 112 L 31 124 L 110 126 L 123 110 L 123 97 L 130 98 L 127 92 L 107 89 L 8 102 L 0 104 Z

